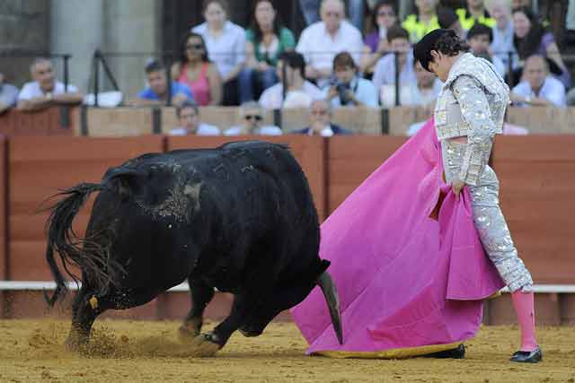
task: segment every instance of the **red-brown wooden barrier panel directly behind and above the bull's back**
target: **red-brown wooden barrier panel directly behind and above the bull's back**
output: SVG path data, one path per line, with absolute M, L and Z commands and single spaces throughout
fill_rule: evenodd
M 270 143 L 288 144 L 296 160 L 305 172 L 307 181 L 314 195 L 315 207 L 321 220 L 327 217 L 325 206 L 326 184 L 325 184 L 325 139 L 322 137 L 307 137 L 300 135 L 281 136 L 229 136 L 229 137 L 201 137 L 184 136 L 169 137 L 167 148 L 192 149 L 192 148 L 213 148 L 231 141 L 261 140 Z

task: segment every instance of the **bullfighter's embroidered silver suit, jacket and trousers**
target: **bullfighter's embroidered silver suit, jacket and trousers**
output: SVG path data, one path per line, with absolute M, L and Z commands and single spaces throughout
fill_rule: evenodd
M 500 183 L 488 165 L 493 137 L 502 133 L 509 87 L 491 63 L 465 53 L 452 66 L 434 113 L 447 182 L 464 181 L 485 252 L 509 290 L 533 291 L 533 280 L 499 205 Z M 467 143 L 453 140 L 467 136 Z

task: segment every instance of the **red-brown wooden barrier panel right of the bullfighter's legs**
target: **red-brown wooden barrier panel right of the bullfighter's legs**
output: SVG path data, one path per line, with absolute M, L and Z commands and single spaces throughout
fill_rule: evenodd
M 535 283 L 575 283 L 575 135 L 498 136 L 501 208 Z

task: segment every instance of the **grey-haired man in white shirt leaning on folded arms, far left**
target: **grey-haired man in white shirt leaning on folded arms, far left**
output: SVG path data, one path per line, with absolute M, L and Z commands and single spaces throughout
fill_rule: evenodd
M 18 109 L 25 111 L 41 110 L 53 105 L 77 105 L 84 96 L 78 89 L 56 79 L 54 67 L 48 58 L 37 58 L 30 66 L 32 82 L 25 83 L 18 94 Z

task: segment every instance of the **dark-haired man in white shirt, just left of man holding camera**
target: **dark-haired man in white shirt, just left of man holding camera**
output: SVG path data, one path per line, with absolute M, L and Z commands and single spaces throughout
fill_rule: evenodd
M 323 97 L 320 91 L 313 83 L 305 80 L 305 60 L 304 57 L 297 52 L 284 52 L 278 57 L 278 65 L 276 67 L 281 83 L 277 83 L 271 88 L 261 93 L 260 105 L 265 109 L 280 109 L 288 108 L 288 99 L 293 99 L 294 96 L 307 96 L 299 97 L 305 99 L 304 103 L 297 105 L 292 104 L 291 107 L 309 107 L 312 100 Z M 284 78 L 284 70 L 286 77 Z M 284 83 L 286 84 L 286 100 L 284 100 Z

